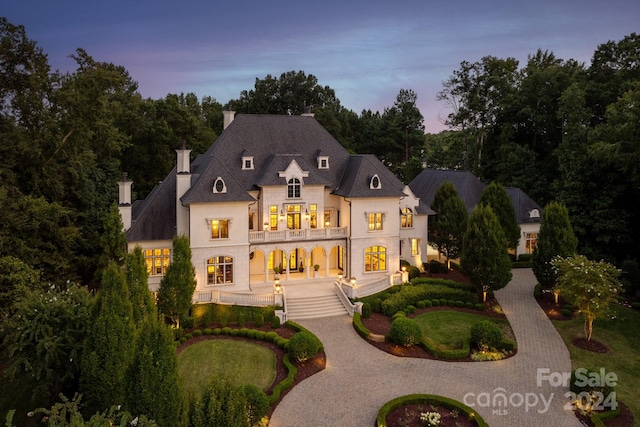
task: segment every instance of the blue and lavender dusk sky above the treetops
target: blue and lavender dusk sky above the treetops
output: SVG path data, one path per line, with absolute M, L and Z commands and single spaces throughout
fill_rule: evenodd
M 124 66 L 144 97 L 196 93 L 221 103 L 256 78 L 302 70 L 357 113 L 418 95 L 427 132 L 445 127 L 436 94 L 461 61 L 537 49 L 589 64 L 598 45 L 640 32 L 638 0 L 2 0 L 54 69 L 83 48 Z

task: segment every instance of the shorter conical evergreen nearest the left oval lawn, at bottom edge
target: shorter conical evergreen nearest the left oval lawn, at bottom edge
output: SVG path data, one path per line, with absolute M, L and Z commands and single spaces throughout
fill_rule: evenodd
M 138 330 L 124 401 L 130 413 L 146 414 L 158 425 L 179 424 L 182 398 L 173 334 L 155 317 Z

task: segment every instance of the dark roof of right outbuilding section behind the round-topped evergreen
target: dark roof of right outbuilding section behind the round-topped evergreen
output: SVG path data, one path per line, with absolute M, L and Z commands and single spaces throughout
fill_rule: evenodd
M 471 212 L 480 201 L 484 184 L 469 171 L 425 169 L 409 183 L 409 188 L 428 206 L 431 206 L 436 192 L 443 182 L 449 181 Z

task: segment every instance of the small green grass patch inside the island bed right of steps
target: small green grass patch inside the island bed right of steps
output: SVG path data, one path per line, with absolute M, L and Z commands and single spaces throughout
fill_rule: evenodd
M 422 330 L 422 335 L 429 338 L 434 344 L 443 348 L 459 348 L 463 343 L 471 339 L 471 327 L 482 321 L 491 320 L 500 326 L 505 338 L 513 340 L 513 332 L 509 322 L 505 319 L 496 319 L 482 314 L 465 313 L 453 310 L 428 311 L 414 319 Z

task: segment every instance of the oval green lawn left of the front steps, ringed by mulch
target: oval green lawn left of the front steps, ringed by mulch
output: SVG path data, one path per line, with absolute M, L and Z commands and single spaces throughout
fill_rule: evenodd
M 227 378 L 235 385 L 254 384 L 266 391 L 276 377 L 276 355 L 244 341 L 201 341 L 178 354 L 178 373 L 187 391 L 202 390 L 214 377 Z

